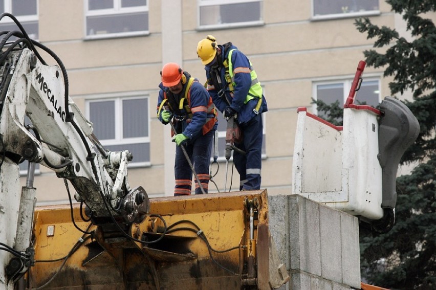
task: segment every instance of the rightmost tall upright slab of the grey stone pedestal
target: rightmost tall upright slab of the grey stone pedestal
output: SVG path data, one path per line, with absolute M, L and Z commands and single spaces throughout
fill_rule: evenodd
M 357 217 L 341 212 L 342 283 L 360 288 L 360 244 Z

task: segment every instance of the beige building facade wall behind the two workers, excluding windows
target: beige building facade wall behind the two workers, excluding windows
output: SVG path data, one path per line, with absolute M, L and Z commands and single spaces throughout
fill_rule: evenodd
M 195 52 L 198 41 L 207 34 L 220 43 L 232 41 L 252 61 L 269 105 L 264 114 L 267 154 L 262 187 L 270 194 L 291 193 L 296 108 L 311 109 L 313 81 L 352 79 L 363 51 L 372 48 L 373 40 L 356 30 L 353 18 L 311 21 L 310 0 L 266 0 L 265 25 L 208 31 L 197 30 L 196 7 L 195 0 L 150 1 L 149 35 L 84 40 L 83 1 L 39 0 L 40 41 L 63 61 L 69 74 L 70 95 L 82 110 L 87 98 L 104 94 L 139 92 L 150 97 L 151 166 L 132 168 L 128 176 L 130 186 L 143 186 L 150 197 L 170 196 L 173 187 L 174 144 L 168 137 L 169 128 L 155 117 L 163 62 L 182 58 L 183 68 L 204 82 L 204 69 Z M 371 20 L 394 27 L 398 20 L 396 23 L 390 7 L 382 2 L 380 9 L 381 14 Z M 172 19 L 162 19 L 162 15 Z M 181 27 L 179 22 L 171 21 L 175 15 L 181 18 Z M 365 74 L 378 77 L 382 70 L 366 68 Z M 389 95 L 388 81 L 382 79 L 382 96 Z M 212 171 L 216 171 L 216 165 Z M 238 176 L 234 171 L 236 189 Z M 220 163 L 214 177 L 220 189 L 224 186 L 224 172 L 225 163 Z M 24 184 L 24 177 L 21 182 Z M 41 167 L 34 185 L 41 203 L 67 200 L 63 181 L 48 169 Z M 213 190 L 213 184 L 209 188 Z

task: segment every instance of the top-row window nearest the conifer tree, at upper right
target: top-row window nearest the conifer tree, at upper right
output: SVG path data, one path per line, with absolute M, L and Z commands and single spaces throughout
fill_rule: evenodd
M 313 19 L 355 17 L 379 14 L 379 0 L 313 0 Z

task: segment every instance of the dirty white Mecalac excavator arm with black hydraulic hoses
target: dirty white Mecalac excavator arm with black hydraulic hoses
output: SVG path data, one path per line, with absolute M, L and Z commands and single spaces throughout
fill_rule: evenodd
M 0 19 L 5 16 L 14 19 L 8 13 Z M 10 39 L 16 40 L 7 43 Z M 47 65 L 35 46 L 58 65 Z M 6 265 L 0 269 L 0 285 L 11 287 L 33 265 L 34 164 L 73 185 L 76 200 L 85 205 L 94 225 L 140 222 L 149 202 L 142 187 L 131 189 L 128 184 L 132 154 L 106 151 L 93 135 L 92 123 L 69 98 L 60 59 L 24 31 L 4 33 L 0 50 L 0 224 L 7 229 L 0 231 L 0 262 Z M 30 124 L 25 124 L 26 117 Z M 31 170 L 20 189 L 19 163 L 24 160 Z

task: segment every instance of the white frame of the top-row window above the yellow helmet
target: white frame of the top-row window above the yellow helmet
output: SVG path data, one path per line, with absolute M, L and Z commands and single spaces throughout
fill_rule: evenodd
M 200 24 L 200 9 L 206 6 L 222 6 L 228 4 L 241 4 L 241 3 L 260 3 L 260 19 L 256 21 L 246 21 L 238 23 L 227 23 L 227 24 L 211 24 L 211 25 L 201 25 Z M 197 30 L 211 30 L 211 29 L 228 29 L 236 27 L 252 27 L 265 25 L 264 20 L 264 0 L 197 0 Z

